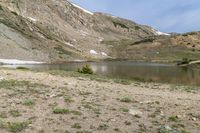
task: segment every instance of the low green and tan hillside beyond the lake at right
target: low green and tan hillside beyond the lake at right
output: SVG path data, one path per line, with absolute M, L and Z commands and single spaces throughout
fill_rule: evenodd
M 125 57 L 129 60 L 159 62 L 179 61 L 184 58 L 199 60 L 200 32 L 147 37 L 137 41 L 125 40 L 120 45 L 115 45 L 113 53 L 120 59 Z

